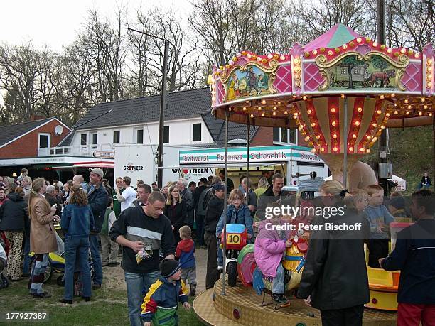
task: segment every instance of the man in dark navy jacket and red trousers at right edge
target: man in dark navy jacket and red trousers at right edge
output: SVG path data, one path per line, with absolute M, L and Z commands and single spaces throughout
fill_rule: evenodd
M 380 266 L 400 271 L 397 325 L 435 325 L 434 192 L 414 192 L 411 212 L 417 223 L 397 234 L 394 250 Z

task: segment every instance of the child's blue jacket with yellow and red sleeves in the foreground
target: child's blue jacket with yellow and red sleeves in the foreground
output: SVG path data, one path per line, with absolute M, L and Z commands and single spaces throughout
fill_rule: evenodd
M 178 301 L 186 303 L 188 290 L 182 280 L 173 284 L 163 276 L 149 288 L 144 303 L 141 305 L 143 322 L 153 322 L 153 325 L 178 325 Z

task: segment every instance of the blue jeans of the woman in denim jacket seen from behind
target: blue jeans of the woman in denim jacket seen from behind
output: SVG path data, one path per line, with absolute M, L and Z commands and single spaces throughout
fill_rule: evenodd
M 91 274 L 88 263 L 89 239 L 88 238 L 65 238 L 65 295 L 66 300 L 73 300 L 74 271 L 76 259 L 80 265 L 83 286 L 83 297 L 91 296 Z

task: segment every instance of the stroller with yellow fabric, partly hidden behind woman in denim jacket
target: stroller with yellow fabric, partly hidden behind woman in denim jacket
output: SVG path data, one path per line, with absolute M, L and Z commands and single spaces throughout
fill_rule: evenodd
M 43 283 L 48 283 L 48 281 L 50 281 L 50 279 L 52 278 L 53 273 L 60 273 L 61 275 L 58 276 L 58 278 L 56 279 L 56 283 L 58 284 L 58 286 L 65 286 L 65 242 L 57 232 L 56 232 L 56 241 L 58 242 L 58 251 L 50 252 L 50 254 L 48 254 L 48 265 L 47 268 L 45 269 Z M 32 257 L 31 268 L 33 270 L 33 266 L 36 263 L 35 259 L 33 258 L 34 253 L 31 252 L 29 256 Z M 89 255 L 88 263 L 89 263 L 89 268 L 92 277 L 94 276 L 94 265 L 92 263 L 92 259 L 90 255 Z M 80 280 L 80 273 L 78 273 L 78 276 L 76 277 L 77 270 L 78 269 L 76 266 L 74 279 L 76 280 L 77 278 L 78 280 Z

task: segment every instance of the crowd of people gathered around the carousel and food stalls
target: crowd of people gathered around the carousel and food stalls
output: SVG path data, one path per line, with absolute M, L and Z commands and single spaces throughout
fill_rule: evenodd
M 143 180 L 137 180 L 134 188 L 128 176 L 116 178 L 111 188 L 100 168 L 89 172 L 88 182 L 82 175 L 74 175 L 65 184 L 43 178 L 32 180 L 26 169 L 16 180 L 0 177 L 0 231 L 9 244 L 8 253 L 0 251 L 0 271 L 7 261 L 9 280 L 28 277 L 34 298 L 50 297 L 43 280 L 48 254 L 58 251 L 55 224 L 59 224 L 65 238 L 65 292 L 61 303 L 73 303 L 77 282 L 82 300 L 89 301 L 92 290 L 102 287 L 102 267 L 119 265 L 121 246 L 131 325 L 159 322 L 162 309 L 176 320 L 176 310 L 170 312 L 168 308 L 178 302 L 190 308 L 187 297 L 195 295 L 195 241 L 207 248 L 205 288 L 213 288 L 223 269 L 225 253 L 220 241 L 224 224 L 237 223 L 246 226 L 248 242 L 255 244 L 257 265 L 272 278 L 272 299 L 286 302 L 281 258 L 292 243 L 285 232 L 271 232 L 264 225 L 282 222 L 283 217 L 266 220 L 265 215 L 267 207 L 281 201 L 286 180 L 280 171 L 273 175 L 264 171 L 256 189 L 245 175 L 235 188 L 230 178 L 225 180 L 224 170 L 209 179 L 201 178 L 198 185 L 179 179 L 162 189 Z M 422 183 L 430 185 L 430 180 L 426 178 Z M 429 218 L 434 216 L 433 202 L 427 205 L 421 197 L 433 200 L 434 194 L 424 189 L 413 195 L 412 214 L 420 219 L 414 225 L 434 229 L 434 220 Z M 321 310 L 323 325 L 360 325 L 363 305 L 369 300 L 363 250 L 367 242 L 369 266 L 402 270 L 399 314 L 407 318 L 404 311 L 417 315 L 426 309 L 425 305 L 431 305 L 432 312 L 427 315 L 433 318 L 433 295 L 417 295 L 425 288 L 435 293 L 433 237 L 426 242 L 398 239 L 389 256 L 389 225 L 394 218 L 407 216 L 404 198 L 394 193 L 386 202 L 379 185 L 348 192 L 338 181 L 323 183 L 319 205 L 343 204 L 347 219 L 365 226 L 363 233 L 358 239 L 346 239 L 345 233 L 312 237 L 297 292 L 299 298 Z M 418 227 L 414 229 L 422 232 Z M 30 251 L 34 254 L 32 268 Z M 418 276 L 410 270 L 408 261 L 419 266 Z

